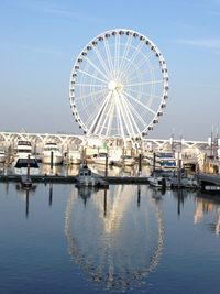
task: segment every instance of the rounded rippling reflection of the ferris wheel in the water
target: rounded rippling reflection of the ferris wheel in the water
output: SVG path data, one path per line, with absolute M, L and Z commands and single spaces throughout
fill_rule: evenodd
M 142 285 L 157 268 L 164 222 L 160 199 L 150 194 L 146 186 L 123 185 L 72 192 L 65 233 L 73 261 L 89 280 L 108 290 L 125 291 Z

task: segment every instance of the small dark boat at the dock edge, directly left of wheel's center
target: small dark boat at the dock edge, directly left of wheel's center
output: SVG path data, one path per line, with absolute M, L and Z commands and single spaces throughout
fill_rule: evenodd
M 102 178 L 98 177 L 97 175 L 94 175 L 91 170 L 88 168 L 87 164 L 84 162 L 80 167 L 78 175 L 76 177 L 77 187 L 108 187 L 108 184 Z

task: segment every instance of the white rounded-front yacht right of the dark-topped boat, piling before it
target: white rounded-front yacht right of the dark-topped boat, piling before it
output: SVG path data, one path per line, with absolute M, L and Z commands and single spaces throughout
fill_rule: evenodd
M 53 165 L 63 163 L 63 154 L 55 142 L 47 142 L 42 152 L 42 163 L 51 164 L 53 160 Z

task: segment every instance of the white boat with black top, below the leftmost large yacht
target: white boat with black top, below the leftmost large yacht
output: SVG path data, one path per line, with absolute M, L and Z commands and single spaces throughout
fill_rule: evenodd
M 14 165 L 14 173 L 18 175 L 37 175 L 40 166 L 35 157 L 19 157 Z

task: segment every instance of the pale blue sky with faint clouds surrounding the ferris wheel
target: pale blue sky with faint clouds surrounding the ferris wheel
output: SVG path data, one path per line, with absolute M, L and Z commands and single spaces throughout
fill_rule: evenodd
M 207 140 L 220 127 L 220 0 L 1 0 L 0 131 L 80 133 L 72 66 L 114 28 L 146 35 L 167 62 L 169 100 L 150 138 Z

